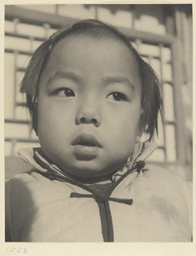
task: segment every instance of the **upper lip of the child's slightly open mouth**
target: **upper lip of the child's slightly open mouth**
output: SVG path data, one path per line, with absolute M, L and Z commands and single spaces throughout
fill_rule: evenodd
M 97 147 L 102 148 L 101 143 L 98 142 L 96 137 L 92 134 L 82 133 L 73 140 L 73 146 L 79 145 L 84 147 Z

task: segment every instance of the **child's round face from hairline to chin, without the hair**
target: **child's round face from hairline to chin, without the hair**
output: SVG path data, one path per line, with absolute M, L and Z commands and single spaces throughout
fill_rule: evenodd
M 61 39 L 39 88 L 38 137 L 50 160 L 78 177 L 100 177 L 124 165 L 139 135 L 141 80 L 123 43 Z

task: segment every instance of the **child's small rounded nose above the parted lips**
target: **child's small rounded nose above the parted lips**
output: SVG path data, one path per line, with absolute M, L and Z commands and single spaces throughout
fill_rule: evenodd
M 78 106 L 76 124 L 93 124 L 98 127 L 101 124 L 101 113 L 96 102 L 84 102 Z

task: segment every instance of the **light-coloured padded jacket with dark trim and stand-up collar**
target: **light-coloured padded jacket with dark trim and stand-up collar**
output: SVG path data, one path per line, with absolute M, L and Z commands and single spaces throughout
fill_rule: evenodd
M 6 182 L 8 241 L 191 241 L 192 191 L 176 174 L 142 166 L 153 150 L 137 144 L 112 185 L 89 186 L 40 148 L 21 149 L 33 169 Z

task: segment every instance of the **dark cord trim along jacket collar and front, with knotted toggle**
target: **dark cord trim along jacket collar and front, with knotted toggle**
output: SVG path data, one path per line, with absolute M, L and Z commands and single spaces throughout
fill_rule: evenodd
M 39 160 L 40 161 L 40 160 Z M 42 163 L 43 164 L 43 163 Z M 61 173 L 54 173 L 52 170 L 49 172 L 45 172 L 43 175 L 48 177 L 49 179 L 58 179 L 61 182 L 72 183 L 74 185 L 78 185 L 78 187 L 83 188 L 89 191 L 91 194 L 79 194 L 72 192 L 70 197 L 71 198 L 93 198 L 98 207 L 101 217 L 101 233 L 103 236 L 103 241 L 114 241 L 114 234 L 113 234 L 113 225 L 112 225 L 112 214 L 110 211 L 109 201 L 114 201 L 118 203 L 124 203 L 126 205 L 131 206 L 133 204 L 133 199 L 119 199 L 110 197 L 112 195 L 112 191 L 121 183 L 125 177 L 130 175 L 133 172 L 137 172 L 139 174 L 141 169 L 145 166 L 145 162 L 139 160 L 138 162 L 135 161 L 135 165 L 133 165 L 126 173 L 124 173 L 116 182 L 107 183 L 107 184 L 94 184 L 94 185 L 87 185 L 84 183 L 80 183 L 71 177 L 66 177 Z M 44 166 L 46 168 L 46 166 Z M 48 168 L 49 169 L 49 166 Z

